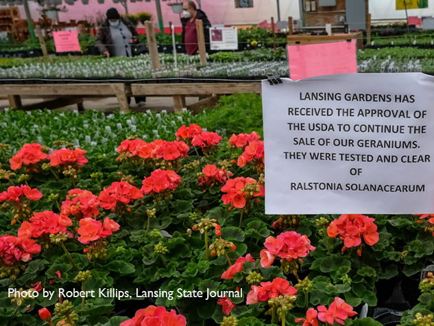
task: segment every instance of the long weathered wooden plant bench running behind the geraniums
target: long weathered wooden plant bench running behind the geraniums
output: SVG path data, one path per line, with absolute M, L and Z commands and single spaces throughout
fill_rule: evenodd
M 185 84 L 0 84 L 0 94 L 8 95 L 11 108 L 34 110 L 38 108 L 61 108 L 77 104 L 83 110 L 83 97 L 117 97 L 119 108 L 130 110 L 128 97 L 171 96 L 175 112 L 186 108 L 185 97 L 204 97 L 189 109 L 197 113 L 206 106 L 212 106 L 220 95 L 234 93 L 261 93 L 261 82 L 215 82 Z M 53 97 L 53 100 L 23 106 L 21 96 Z

